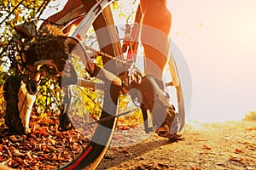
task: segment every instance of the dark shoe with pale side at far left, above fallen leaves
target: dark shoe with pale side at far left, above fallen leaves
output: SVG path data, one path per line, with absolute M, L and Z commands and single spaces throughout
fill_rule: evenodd
M 12 76 L 4 84 L 5 123 L 10 133 L 30 133 L 29 118 L 38 89 L 28 77 Z

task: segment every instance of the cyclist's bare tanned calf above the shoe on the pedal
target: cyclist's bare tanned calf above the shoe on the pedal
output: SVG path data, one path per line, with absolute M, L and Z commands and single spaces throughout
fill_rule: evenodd
M 142 42 L 145 56 L 155 64 L 152 65 L 146 60 L 145 72 L 161 79 L 169 50 L 172 14 L 166 6 L 166 0 L 141 0 L 140 3 L 143 12 Z

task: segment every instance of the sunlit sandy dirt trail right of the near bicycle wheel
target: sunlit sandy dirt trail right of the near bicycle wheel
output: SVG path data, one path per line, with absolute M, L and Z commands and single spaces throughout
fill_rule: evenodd
M 189 123 L 177 142 L 153 134 L 112 147 L 101 169 L 256 169 L 256 122 Z

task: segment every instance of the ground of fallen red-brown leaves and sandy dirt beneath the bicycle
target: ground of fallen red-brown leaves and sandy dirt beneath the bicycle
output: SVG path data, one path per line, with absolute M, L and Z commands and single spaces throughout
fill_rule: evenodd
M 0 165 L 26 170 L 54 169 L 71 161 L 86 139 L 75 130 L 58 132 L 56 122 L 53 118 L 33 117 L 30 136 L 2 136 Z M 156 133 L 146 134 L 143 127 L 123 127 L 114 134 L 111 147 L 97 168 L 102 169 L 253 170 L 256 122 L 189 122 L 183 139 L 178 141 Z

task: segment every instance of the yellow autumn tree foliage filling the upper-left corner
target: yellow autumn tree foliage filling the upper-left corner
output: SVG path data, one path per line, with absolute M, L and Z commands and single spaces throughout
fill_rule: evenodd
M 39 17 L 44 8 L 49 3 L 49 0 L 3 0 L 0 3 L 0 64 L 1 68 L 4 68 L 1 71 L 11 74 L 15 74 L 14 68 L 9 66 L 13 64 L 14 61 L 9 60 L 11 50 L 9 45 L 15 39 L 15 26 L 24 24 L 27 21 L 33 20 L 35 17 Z M 19 58 L 17 58 L 19 60 Z M 2 77 L 0 77 L 2 78 Z M 3 81 L 0 80 L 0 85 L 3 85 Z

